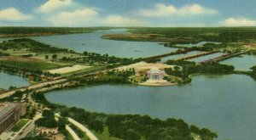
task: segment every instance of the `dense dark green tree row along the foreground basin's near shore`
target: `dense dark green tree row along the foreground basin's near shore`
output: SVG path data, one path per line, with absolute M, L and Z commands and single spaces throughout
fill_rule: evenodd
M 189 126 L 183 120 L 176 119 L 152 119 L 148 115 L 105 115 L 90 113 L 84 109 L 59 108 L 62 116 L 72 117 L 89 126 L 91 130 L 101 133 L 104 126 L 108 126 L 111 137 L 119 137 L 125 140 L 193 140 L 191 133 L 198 134 L 202 140 L 212 140 L 217 134 L 206 128 Z

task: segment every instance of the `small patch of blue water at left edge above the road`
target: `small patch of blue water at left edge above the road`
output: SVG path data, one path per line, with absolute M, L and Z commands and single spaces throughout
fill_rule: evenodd
M 28 86 L 29 82 L 21 76 L 10 75 L 7 73 L 0 72 L 0 88 L 9 89 L 13 87 L 24 87 Z

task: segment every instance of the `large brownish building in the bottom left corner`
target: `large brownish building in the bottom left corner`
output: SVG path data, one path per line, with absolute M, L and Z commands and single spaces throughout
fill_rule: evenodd
M 26 113 L 23 103 L 0 104 L 0 134 L 20 120 L 20 116 Z

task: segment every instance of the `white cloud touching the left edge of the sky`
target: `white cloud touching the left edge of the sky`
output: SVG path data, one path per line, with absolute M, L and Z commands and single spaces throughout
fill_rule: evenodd
M 32 15 L 22 14 L 16 8 L 6 8 L 0 11 L 0 20 L 21 21 L 30 19 L 32 19 Z

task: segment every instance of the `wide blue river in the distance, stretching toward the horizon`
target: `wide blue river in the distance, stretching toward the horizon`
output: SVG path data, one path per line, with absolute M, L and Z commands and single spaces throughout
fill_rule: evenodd
M 72 49 L 79 53 L 84 51 L 101 54 L 108 53 L 122 58 L 143 58 L 177 50 L 177 48 L 166 48 L 157 42 L 125 42 L 102 39 L 103 35 L 108 34 L 128 34 L 128 32 L 115 29 L 93 33 L 36 36 L 31 38 L 58 48 Z

